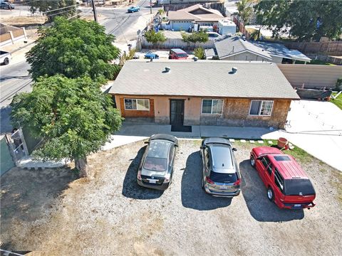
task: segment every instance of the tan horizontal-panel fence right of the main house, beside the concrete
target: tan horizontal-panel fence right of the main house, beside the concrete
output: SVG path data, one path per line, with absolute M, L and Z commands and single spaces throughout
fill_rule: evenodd
M 333 89 L 336 81 L 342 76 L 342 66 L 277 64 L 278 68 L 293 87 Z

